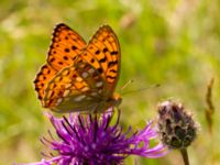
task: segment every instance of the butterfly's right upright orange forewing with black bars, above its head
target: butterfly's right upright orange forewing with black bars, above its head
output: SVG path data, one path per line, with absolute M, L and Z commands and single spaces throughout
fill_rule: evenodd
M 97 31 L 80 58 L 95 67 L 103 78 L 101 97 L 111 97 L 120 75 L 121 53 L 118 37 L 109 25 Z

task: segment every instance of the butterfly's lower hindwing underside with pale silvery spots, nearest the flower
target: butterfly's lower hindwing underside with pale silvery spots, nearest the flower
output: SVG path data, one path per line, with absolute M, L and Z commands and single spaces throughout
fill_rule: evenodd
M 101 75 L 88 63 L 66 67 L 48 82 L 43 106 L 56 112 L 96 110 L 102 81 Z

